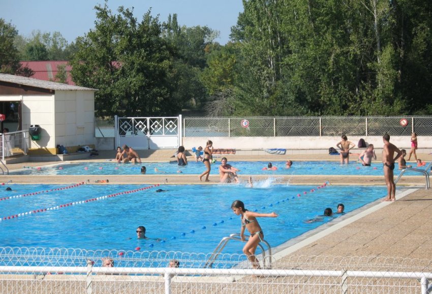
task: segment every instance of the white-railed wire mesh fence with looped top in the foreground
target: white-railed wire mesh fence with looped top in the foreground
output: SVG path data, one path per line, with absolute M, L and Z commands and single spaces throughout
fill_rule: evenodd
M 428 259 L 0 248 L 1 293 L 426 293 Z M 260 256 L 258 256 L 260 258 Z M 262 262 L 262 260 L 261 260 Z

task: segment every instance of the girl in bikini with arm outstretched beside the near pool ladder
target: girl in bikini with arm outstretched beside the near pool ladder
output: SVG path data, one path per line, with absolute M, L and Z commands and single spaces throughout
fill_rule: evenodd
M 257 221 L 257 217 L 277 217 L 277 214 L 274 212 L 262 214 L 262 213 L 249 211 L 249 210 L 244 208 L 244 203 L 240 200 L 235 200 L 234 202 L 232 202 L 231 209 L 236 215 L 240 216 L 240 221 L 241 221 L 240 238 L 241 238 L 241 241 L 245 240 L 245 238 L 244 238 L 244 230 L 245 229 L 248 229 L 248 231 L 251 234 L 248 242 L 243 247 L 243 253 L 248 255 L 248 258 L 252 263 L 252 267 L 254 267 L 254 269 L 259 269 L 260 264 L 259 264 L 257 257 L 255 256 L 255 250 L 257 250 L 258 244 L 263 241 L 264 233 L 262 231 L 261 226 L 259 225 L 259 223 Z

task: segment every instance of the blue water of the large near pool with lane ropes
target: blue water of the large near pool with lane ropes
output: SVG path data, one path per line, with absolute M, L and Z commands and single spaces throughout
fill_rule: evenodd
M 1 246 L 65 247 L 96 249 L 212 252 L 223 237 L 240 231 L 240 219 L 230 209 L 240 199 L 246 209 L 278 213 L 277 218 L 259 218 L 265 240 L 272 247 L 318 227 L 332 218 L 305 223 L 322 215 L 326 207 L 345 204 L 350 212 L 386 194 L 385 187 L 271 185 L 161 185 L 146 190 L 83 202 L 110 194 L 147 187 L 137 185 L 81 185 L 63 190 L 58 185 L 9 185 L 2 192 L 0 216 L 48 209 L 0 221 Z M 156 192 L 163 189 L 165 192 Z M 314 192 L 311 190 L 314 189 Z M 42 192 L 25 197 L 28 193 Z M 306 192 L 306 194 L 304 194 Z M 300 194 L 300 197 L 298 197 Z M 81 201 L 81 204 L 79 204 Z M 77 203 L 78 202 L 78 203 Z M 75 203 L 49 210 L 60 204 Z M 336 215 L 337 217 L 338 215 Z M 139 225 L 150 239 L 136 239 Z M 205 227 L 205 228 L 204 228 Z M 194 232 L 192 232 L 194 231 Z M 157 241 L 155 239 L 161 239 Z M 231 242 L 224 253 L 241 253 L 243 244 Z

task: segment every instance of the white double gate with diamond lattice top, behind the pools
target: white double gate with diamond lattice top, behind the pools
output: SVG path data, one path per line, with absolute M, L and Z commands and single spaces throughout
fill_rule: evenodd
M 115 116 L 115 145 L 133 149 L 175 149 L 181 140 L 181 115 L 172 117 Z

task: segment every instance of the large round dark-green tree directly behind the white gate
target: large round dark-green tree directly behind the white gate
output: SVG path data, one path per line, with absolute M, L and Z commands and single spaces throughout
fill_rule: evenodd
M 96 88 L 97 115 L 172 115 L 179 111 L 167 73 L 171 50 L 150 11 L 141 22 L 133 11 L 96 6 L 95 29 L 76 40 L 70 64 L 74 81 Z

